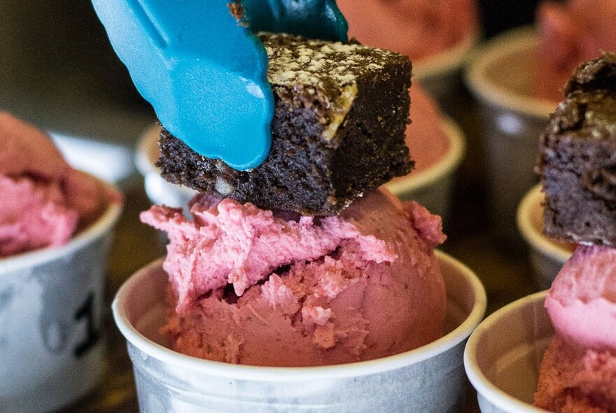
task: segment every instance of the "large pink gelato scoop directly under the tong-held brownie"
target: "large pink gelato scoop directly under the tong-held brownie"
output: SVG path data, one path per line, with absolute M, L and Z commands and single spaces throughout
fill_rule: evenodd
M 370 360 L 443 334 L 433 248 L 440 218 L 385 190 L 314 218 L 197 195 L 193 221 L 154 206 L 167 232 L 173 349 L 209 360 L 310 366 Z

